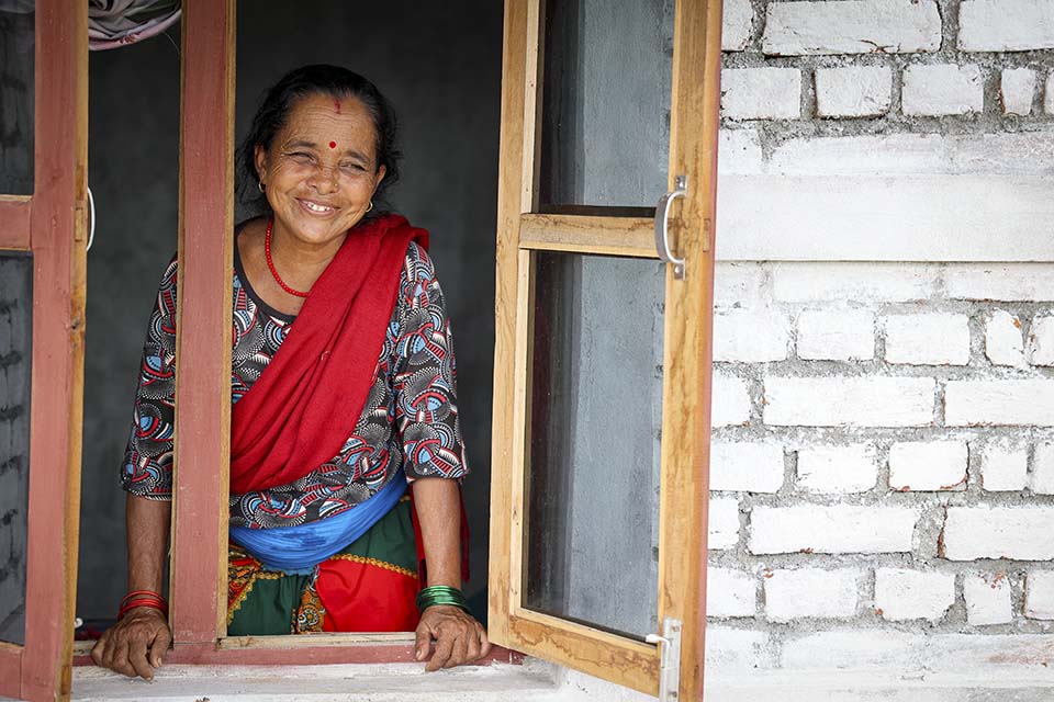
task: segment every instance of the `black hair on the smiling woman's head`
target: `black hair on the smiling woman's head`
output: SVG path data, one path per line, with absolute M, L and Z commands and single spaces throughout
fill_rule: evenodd
M 395 112 L 391 103 L 372 82 L 355 71 L 339 66 L 315 64 L 295 68 L 285 73 L 264 98 L 249 134 L 239 147 L 238 192 L 242 201 L 258 213 L 270 212 L 267 197 L 257 189 L 259 174 L 256 171 L 256 147 L 270 150 L 274 135 L 289 118 L 289 113 L 298 100 L 309 95 L 328 95 L 334 99 L 356 98 L 366 105 L 373 120 L 377 134 L 377 167 L 384 167 L 384 179 L 373 194 L 373 210 L 366 218 L 378 216 L 386 210 L 384 193 L 399 181 L 399 132 Z

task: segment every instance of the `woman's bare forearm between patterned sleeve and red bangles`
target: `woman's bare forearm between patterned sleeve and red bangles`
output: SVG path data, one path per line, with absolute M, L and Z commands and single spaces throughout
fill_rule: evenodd
M 128 542 L 128 590 L 162 592 L 172 503 L 130 494 L 124 517 Z

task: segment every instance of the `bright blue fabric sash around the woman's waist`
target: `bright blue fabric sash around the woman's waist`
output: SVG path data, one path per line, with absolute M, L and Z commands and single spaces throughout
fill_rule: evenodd
M 406 492 L 402 468 L 373 497 L 334 517 L 295 526 L 232 526 L 231 539 L 269 570 L 310 575 L 312 569 L 365 534 Z

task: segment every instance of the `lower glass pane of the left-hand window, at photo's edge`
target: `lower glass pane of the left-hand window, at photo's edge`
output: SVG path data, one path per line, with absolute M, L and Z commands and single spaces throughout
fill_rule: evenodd
M 0 252 L 0 641 L 25 643 L 33 259 Z

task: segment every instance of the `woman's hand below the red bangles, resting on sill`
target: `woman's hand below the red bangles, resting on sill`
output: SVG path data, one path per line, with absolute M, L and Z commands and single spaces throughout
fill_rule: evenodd
M 168 619 L 153 608 L 137 607 L 103 632 L 91 649 L 91 659 L 130 678 L 153 680 L 154 668 L 160 667 L 171 642 Z

